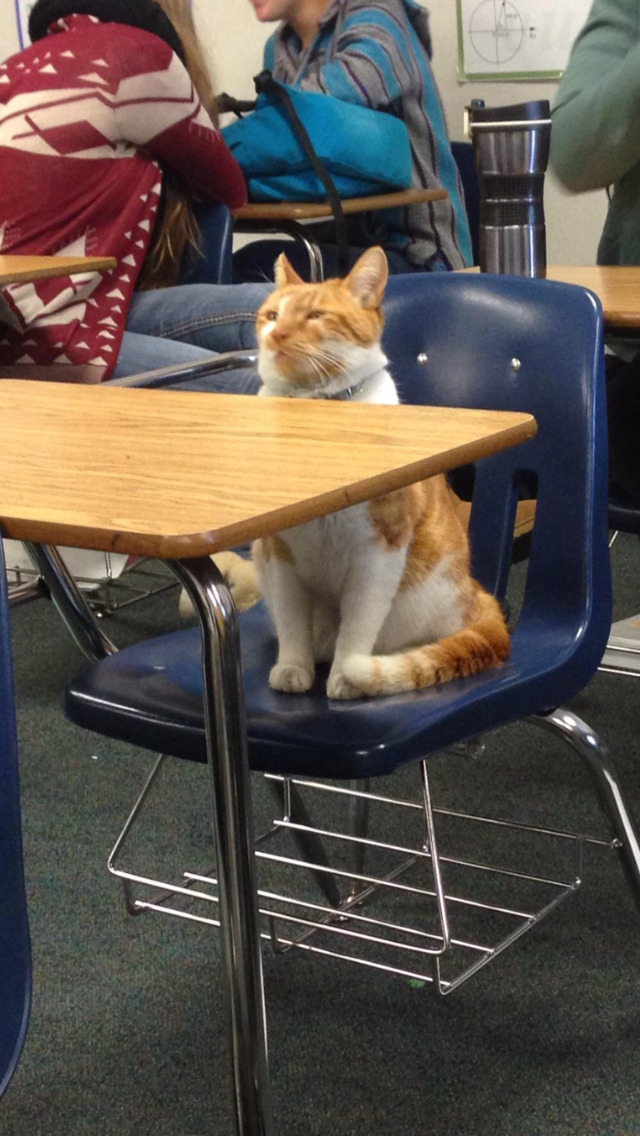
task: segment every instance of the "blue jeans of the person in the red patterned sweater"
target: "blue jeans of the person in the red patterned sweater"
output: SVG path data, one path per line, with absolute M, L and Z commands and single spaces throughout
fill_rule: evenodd
M 174 364 L 205 359 L 211 352 L 256 346 L 256 312 L 273 284 L 183 284 L 135 292 L 114 378 Z M 189 391 L 255 394 L 255 370 L 186 381 Z

